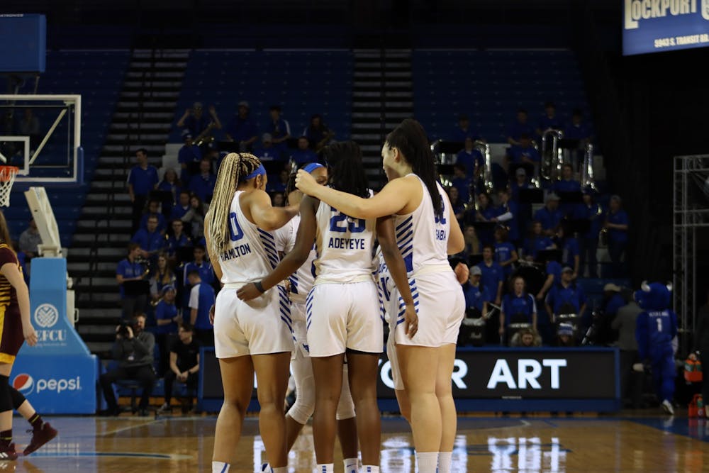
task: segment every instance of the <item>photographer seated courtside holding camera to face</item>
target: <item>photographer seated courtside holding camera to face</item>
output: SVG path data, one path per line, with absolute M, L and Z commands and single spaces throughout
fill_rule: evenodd
M 116 342 L 113 343 L 113 360 L 118 361 L 118 368 L 101 374 L 101 389 L 104 391 L 108 414 L 118 416 L 121 409 L 113 394 L 113 383 L 122 379 L 135 379 L 143 386 L 140 396 L 140 415 L 147 416 L 147 403 L 155 384 L 155 372 L 152 369 L 155 337 L 145 331 L 145 316 L 139 314 L 132 323 L 123 322 L 116 327 Z

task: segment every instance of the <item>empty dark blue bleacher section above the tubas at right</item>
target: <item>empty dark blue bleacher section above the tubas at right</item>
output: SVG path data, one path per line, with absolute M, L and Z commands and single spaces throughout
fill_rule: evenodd
M 489 143 L 506 143 L 518 108 L 536 127 L 547 100 L 564 121 L 581 108 L 591 124 L 571 50 L 416 50 L 413 79 L 415 116 L 431 139 L 449 139 L 467 113 Z

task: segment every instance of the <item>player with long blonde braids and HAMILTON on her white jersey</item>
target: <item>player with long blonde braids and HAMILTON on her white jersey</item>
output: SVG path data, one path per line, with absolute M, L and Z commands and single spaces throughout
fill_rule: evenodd
M 212 471 L 218 473 L 228 472 L 235 461 L 254 372 L 259 430 L 269 464 L 275 473 L 288 468 L 283 412 L 293 350 L 288 296 L 279 286 L 247 303 L 235 291 L 262 279 L 278 264 L 271 232 L 297 213 L 292 206 L 272 207 L 266 183 L 266 170 L 257 157 L 226 155 L 204 228 L 214 272 L 223 284 L 214 308 L 215 352 L 224 388 L 212 457 Z

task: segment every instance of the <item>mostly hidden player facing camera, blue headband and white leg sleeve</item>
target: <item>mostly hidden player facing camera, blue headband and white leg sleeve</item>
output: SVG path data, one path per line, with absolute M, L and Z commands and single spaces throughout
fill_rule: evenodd
M 327 184 L 328 168 L 311 162 L 303 167 L 310 172 L 319 184 Z M 299 206 L 303 199 L 303 193 L 295 187 L 295 174 L 289 181 L 288 204 Z M 296 242 L 296 233 L 300 216 L 295 216 L 285 226 L 275 232 L 276 247 L 278 250 L 288 254 L 293 250 Z M 310 359 L 307 332 L 306 332 L 306 296 L 313 287 L 315 277 L 313 276 L 313 260 L 316 258 L 316 250 L 313 247 L 308 254 L 306 262 L 290 275 L 291 299 L 291 320 L 293 321 L 293 332 L 295 350 L 291 357 L 291 372 L 296 383 L 296 402 L 286 413 L 286 443 L 290 451 L 298 438 L 303 425 L 313 415 L 315 410 L 315 380 L 313 378 L 313 365 Z M 357 423 L 354 418 L 354 402 L 350 394 L 350 382 L 347 380 L 347 363 L 342 372 L 342 392 L 340 401 L 337 404 L 337 435 L 340 437 L 342 446 L 342 458 L 345 462 L 345 473 L 357 473 L 359 463 L 357 460 Z

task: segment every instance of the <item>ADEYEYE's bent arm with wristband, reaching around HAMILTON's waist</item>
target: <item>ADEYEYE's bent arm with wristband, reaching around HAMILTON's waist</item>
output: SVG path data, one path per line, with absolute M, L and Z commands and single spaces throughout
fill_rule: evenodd
M 301 201 L 301 223 L 298 225 L 298 233 L 296 233 L 296 243 L 293 245 L 293 250 L 284 257 L 278 266 L 270 272 L 267 277 L 264 277 L 258 284 L 249 283 L 242 286 L 236 291 L 237 296 L 242 301 L 250 301 L 257 298 L 265 291 L 268 291 L 280 281 L 286 279 L 296 270 L 303 266 L 303 263 L 308 259 L 310 250 L 313 247 L 313 242 L 316 237 L 316 209 L 320 203 L 312 197 L 305 196 Z M 260 284 L 260 287 L 259 287 Z

